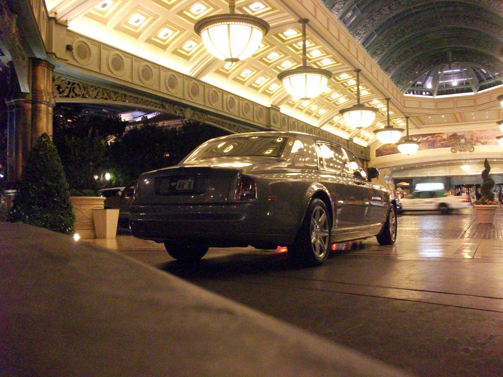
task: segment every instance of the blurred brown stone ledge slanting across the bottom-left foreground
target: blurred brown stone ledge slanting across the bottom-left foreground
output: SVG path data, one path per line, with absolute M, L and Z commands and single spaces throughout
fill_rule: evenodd
M 2 377 L 408 375 L 91 242 L 0 240 Z

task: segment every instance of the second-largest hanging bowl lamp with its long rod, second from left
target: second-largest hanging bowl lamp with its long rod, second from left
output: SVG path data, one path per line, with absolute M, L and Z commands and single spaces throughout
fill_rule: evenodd
M 308 20 L 299 20 L 302 24 L 302 66 L 281 72 L 278 78 L 283 81 L 286 91 L 295 98 L 310 100 L 321 93 L 332 77 L 332 72 L 307 66 L 306 24 Z

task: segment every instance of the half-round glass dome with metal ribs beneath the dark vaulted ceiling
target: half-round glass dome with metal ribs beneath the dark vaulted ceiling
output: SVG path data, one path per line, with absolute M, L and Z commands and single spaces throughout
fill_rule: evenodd
M 442 64 L 429 69 L 415 81 L 411 81 L 405 94 L 437 97 L 477 93 L 502 83 L 497 72 L 489 72 L 473 64 Z

